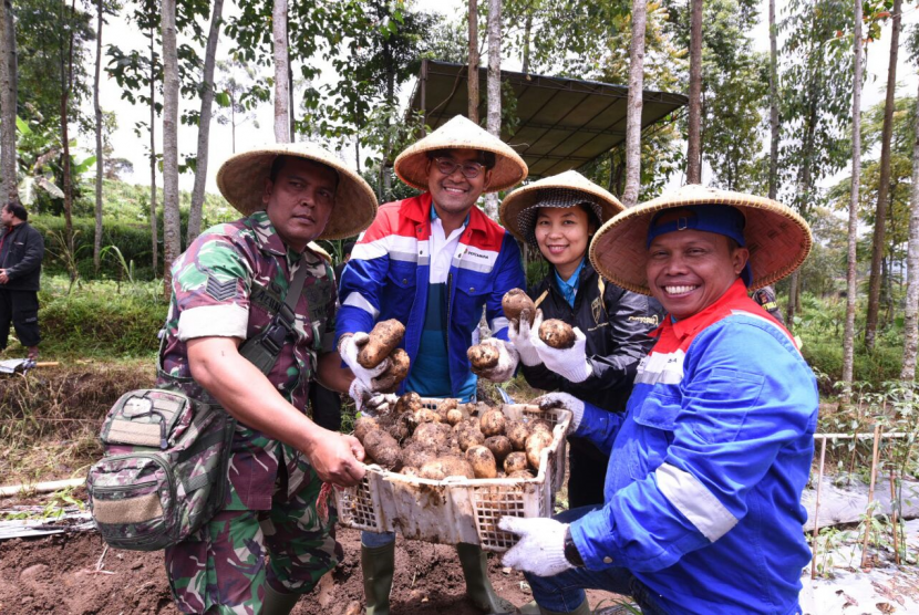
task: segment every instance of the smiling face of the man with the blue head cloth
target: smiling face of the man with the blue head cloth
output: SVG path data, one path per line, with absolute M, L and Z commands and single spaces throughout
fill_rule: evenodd
M 654 238 L 648 248 L 648 286 L 677 320 L 717 301 L 740 277 L 750 252 L 723 234 L 681 230 Z

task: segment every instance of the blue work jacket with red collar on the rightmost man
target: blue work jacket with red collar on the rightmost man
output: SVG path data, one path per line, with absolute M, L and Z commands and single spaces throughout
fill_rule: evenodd
M 740 280 L 658 332 L 626 415 L 586 407 L 577 435 L 610 463 L 575 544 L 589 569 L 631 570 L 668 613 L 796 613 L 814 375 Z

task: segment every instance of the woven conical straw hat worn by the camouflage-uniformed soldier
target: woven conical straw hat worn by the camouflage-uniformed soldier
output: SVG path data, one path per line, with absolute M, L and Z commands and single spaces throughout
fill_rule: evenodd
M 217 171 L 217 187 L 231 206 L 248 216 L 265 209 L 261 195 L 278 156 L 306 158 L 338 171 L 335 205 L 317 239 L 344 239 L 366 229 L 376 217 L 376 196 L 364 179 L 331 152 L 313 143 L 277 143 L 231 156 Z

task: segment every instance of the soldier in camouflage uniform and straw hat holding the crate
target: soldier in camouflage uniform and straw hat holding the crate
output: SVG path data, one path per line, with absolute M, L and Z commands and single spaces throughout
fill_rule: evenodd
M 335 285 L 314 239 L 366 228 L 373 191 L 310 144 L 234 156 L 217 177 L 245 218 L 205 231 L 172 267 L 173 296 L 158 381 L 220 404 L 237 419 L 225 507 L 194 540 L 166 550 L 173 596 L 186 613 L 289 613 L 341 556 L 323 482 L 363 477 L 363 448 L 303 414 L 310 382 L 347 390 L 332 350 Z M 267 376 L 239 354 L 307 267 L 288 334 Z

